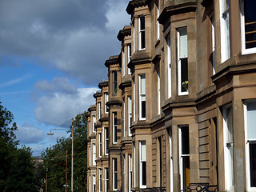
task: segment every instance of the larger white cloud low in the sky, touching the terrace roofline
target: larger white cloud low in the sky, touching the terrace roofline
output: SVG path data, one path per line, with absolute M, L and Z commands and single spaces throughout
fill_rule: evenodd
M 78 88 L 76 94 L 54 93 L 38 98 L 34 110 L 40 122 L 54 126 L 68 127 L 71 118 L 87 110 L 95 102 L 93 94 L 97 88 Z

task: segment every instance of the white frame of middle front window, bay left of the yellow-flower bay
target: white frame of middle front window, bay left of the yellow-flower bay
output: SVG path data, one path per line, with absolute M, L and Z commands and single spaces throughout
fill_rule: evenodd
M 145 93 L 142 92 L 142 77 L 145 79 Z M 139 120 L 146 120 L 146 109 L 145 109 L 145 118 L 142 118 L 142 101 L 145 99 L 145 108 L 146 108 L 146 74 L 139 74 L 138 75 L 138 88 L 139 88 Z

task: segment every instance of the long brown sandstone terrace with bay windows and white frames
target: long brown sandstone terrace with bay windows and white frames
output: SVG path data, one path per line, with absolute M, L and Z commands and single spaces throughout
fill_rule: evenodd
M 89 192 L 256 191 L 255 9 L 129 2 L 88 110 Z

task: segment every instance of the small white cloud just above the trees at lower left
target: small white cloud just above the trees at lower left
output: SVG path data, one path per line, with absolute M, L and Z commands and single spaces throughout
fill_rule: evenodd
M 46 135 L 45 131 L 34 126 L 18 126 L 18 130 L 15 131 L 15 134 L 21 144 L 40 142 Z

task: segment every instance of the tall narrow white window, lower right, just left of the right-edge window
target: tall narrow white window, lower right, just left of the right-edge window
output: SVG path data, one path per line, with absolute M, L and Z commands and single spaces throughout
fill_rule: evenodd
M 223 107 L 225 190 L 234 188 L 233 170 L 233 115 L 232 106 Z

